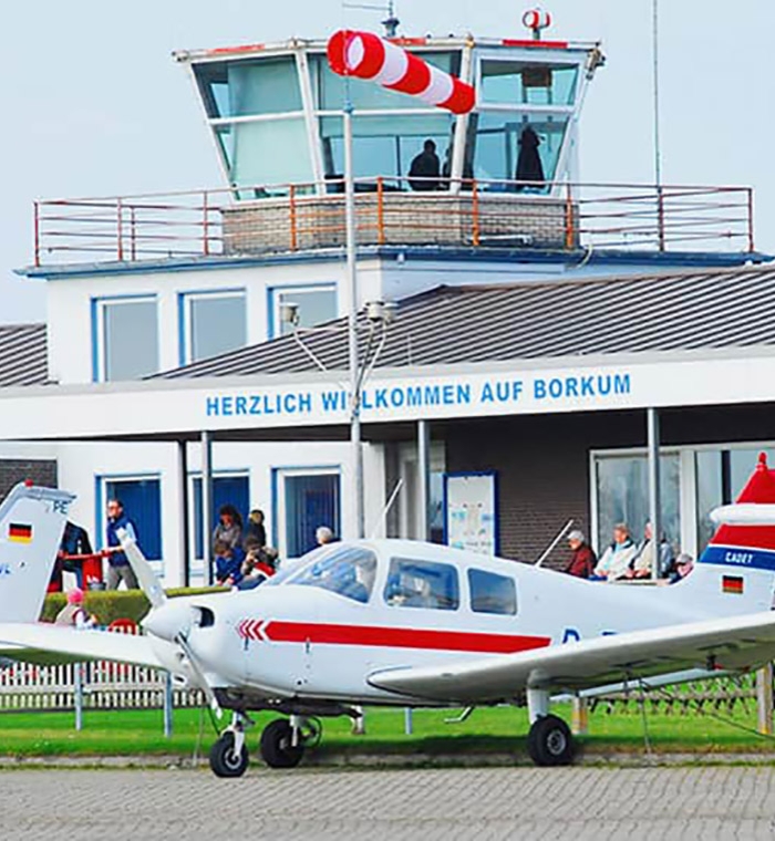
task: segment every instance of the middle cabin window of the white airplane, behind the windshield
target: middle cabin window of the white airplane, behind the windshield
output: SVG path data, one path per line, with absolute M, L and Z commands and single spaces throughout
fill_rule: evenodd
M 448 563 L 393 558 L 384 598 L 392 606 L 457 610 L 461 603 L 457 570 Z

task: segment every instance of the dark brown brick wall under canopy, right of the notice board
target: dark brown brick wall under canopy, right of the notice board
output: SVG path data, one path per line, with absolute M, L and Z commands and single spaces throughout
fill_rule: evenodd
M 572 517 L 589 533 L 589 453 L 643 447 L 644 412 L 600 412 L 455 422 L 438 429 L 447 470 L 498 473 L 500 552 L 534 561 Z M 775 407 L 661 413 L 664 446 L 775 440 Z

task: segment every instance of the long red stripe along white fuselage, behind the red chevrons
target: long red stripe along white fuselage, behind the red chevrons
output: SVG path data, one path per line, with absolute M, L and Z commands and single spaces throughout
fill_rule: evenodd
M 319 645 L 366 645 L 382 648 L 424 648 L 512 654 L 542 648 L 548 636 L 514 634 L 476 634 L 462 631 L 431 631 L 413 627 L 373 625 L 329 625 L 310 622 L 270 621 L 264 633 L 277 643 L 317 643 Z

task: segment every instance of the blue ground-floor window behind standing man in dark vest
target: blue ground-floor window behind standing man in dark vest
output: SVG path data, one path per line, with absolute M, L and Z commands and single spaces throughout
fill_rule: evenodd
M 162 560 L 162 482 L 158 477 L 101 477 L 96 522 L 101 533 L 95 546 L 105 546 L 105 506 L 108 499 L 120 499 L 124 512 L 134 522 L 137 544 L 149 561 Z

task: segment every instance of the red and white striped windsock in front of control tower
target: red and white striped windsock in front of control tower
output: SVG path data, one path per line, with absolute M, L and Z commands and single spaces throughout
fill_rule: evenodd
M 329 39 L 328 59 L 340 76 L 369 79 L 453 114 L 467 114 L 476 101 L 472 85 L 371 32 L 335 32 Z

